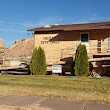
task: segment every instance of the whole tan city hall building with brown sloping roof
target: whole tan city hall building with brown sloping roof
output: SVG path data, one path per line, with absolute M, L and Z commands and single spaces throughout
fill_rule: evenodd
M 81 43 L 86 45 L 89 61 L 95 71 L 107 72 L 105 67 L 109 67 L 110 60 L 110 22 L 55 24 L 28 31 L 34 31 L 34 47 L 44 48 L 48 70 L 54 64 L 62 64 L 64 72 L 71 71 L 76 48 Z

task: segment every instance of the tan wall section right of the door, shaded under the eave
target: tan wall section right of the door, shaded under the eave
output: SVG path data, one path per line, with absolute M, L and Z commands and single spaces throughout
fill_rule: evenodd
M 108 51 L 108 30 L 92 30 L 90 32 L 90 53 L 96 54 L 98 52 L 98 40 L 101 40 L 101 53 Z

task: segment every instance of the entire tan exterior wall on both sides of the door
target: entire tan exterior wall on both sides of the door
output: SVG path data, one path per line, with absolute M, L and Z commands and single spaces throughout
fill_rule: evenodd
M 68 31 L 48 34 L 35 34 L 34 46 L 41 46 L 45 50 L 47 63 L 55 63 L 61 58 L 72 57 L 76 52 L 76 47 L 80 43 L 80 33 L 89 32 L 89 54 L 97 53 L 98 40 L 101 40 L 101 52 L 108 49 L 109 30 L 92 31 Z

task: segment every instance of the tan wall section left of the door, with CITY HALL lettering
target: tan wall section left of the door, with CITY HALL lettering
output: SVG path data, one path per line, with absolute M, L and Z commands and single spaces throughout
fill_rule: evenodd
M 41 46 L 45 50 L 47 63 L 60 61 L 61 57 L 72 57 L 80 34 L 75 32 L 60 32 L 56 34 L 35 34 L 35 47 Z

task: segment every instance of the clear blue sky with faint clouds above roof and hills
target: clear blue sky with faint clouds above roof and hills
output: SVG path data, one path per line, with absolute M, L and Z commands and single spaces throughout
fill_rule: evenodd
M 6 47 L 33 38 L 28 29 L 106 21 L 110 21 L 110 0 L 0 0 L 0 38 Z

